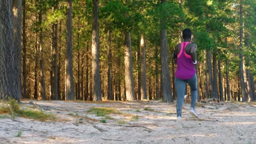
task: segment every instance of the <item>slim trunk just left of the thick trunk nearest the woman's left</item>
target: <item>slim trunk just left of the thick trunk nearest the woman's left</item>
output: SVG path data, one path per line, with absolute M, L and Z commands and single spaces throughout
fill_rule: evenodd
M 160 91 L 159 91 L 159 70 L 158 70 L 158 47 L 155 46 L 155 93 L 156 99 L 160 99 Z

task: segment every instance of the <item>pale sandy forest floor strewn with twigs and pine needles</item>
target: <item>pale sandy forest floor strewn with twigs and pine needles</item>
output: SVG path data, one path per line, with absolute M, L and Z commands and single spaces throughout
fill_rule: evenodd
M 21 109 L 53 113 L 54 121 L 0 117 L 0 143 L 256 143 L 256 103 L 199 103 L 200 119 L 161 101 L 21 100 Z M 95 107 L 117 110 L 95 114 Z M 111 109 L 109 109 L 111 108 Z M 112 109 L 113 108 L 113 109 Z M 0 115 L 1 116 L 1 115 Z

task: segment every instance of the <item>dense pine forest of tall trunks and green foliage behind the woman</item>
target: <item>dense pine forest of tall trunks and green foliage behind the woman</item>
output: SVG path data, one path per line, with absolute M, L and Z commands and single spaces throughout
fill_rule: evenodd
M 199 97 L 253 101 L 255 1 L 1 1 L 0 98 L 176 100 L 172 53 L 197 44 Z M 187 94 L 190 94 L 188 87 Z

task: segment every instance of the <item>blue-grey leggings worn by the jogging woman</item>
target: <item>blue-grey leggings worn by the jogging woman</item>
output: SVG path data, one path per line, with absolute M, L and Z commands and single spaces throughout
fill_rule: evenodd
M 191 79 L 188 79 L 188 80 L 182 80 L 175 77 L 174 82 L 175 82 L 177 98 L 178 98 L 177 104 L 176 104 L 176 111 L 177 111 L 177 116 L 181 117 L 186 83 L 189 84 L 191 89 L 191 107 L 195 108 L 196 97 L 197 97 L 197 76 L 195 74 Z

